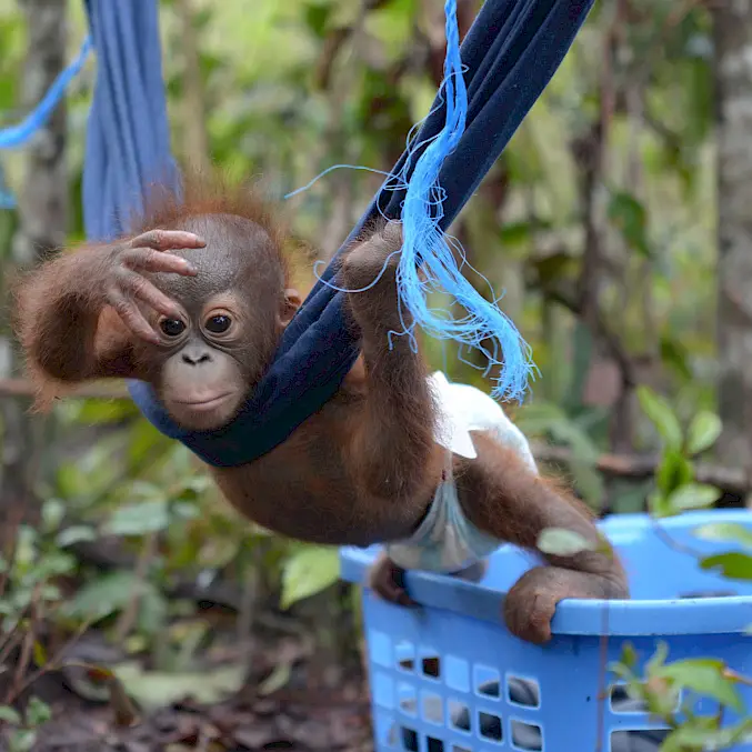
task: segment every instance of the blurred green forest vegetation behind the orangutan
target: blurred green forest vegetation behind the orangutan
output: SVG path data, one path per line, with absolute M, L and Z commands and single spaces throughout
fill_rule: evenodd
M 0 0 L 0 124 L 17 122 L 74 54 L 80 4 Z M 458 4 L 467 29 L 480 3 Z M 599 513 L 642 510 L 688 484 L 685 508 L 740 504 L 748 492 L 752 10 L 732 4 L 598 3 L 452 228 L 534 348 L 540 378 L 529 402 L 510 410 L 541 461 Z M 335 163 L 389 169 L 441 80 L 438 0 L 160 8 L 180 161 L 259 176 L 275 197 Z M 29 148 L 0 154 L 18 201 L 0 210 L 6 291 L 18 270 L 82 238 L 93 66 Z M 379 184 L 341 170 L 287 202 L 311 258 L 339 247 Z M 30 415 L 7 302 L 0 515 L 4 559 L 14 550 L 17 563 L 0 616 L 36 629 L 31 642 L 18 630 L 8 651 L 26 650 L 28 666 L 44 663 L 51 645 L 91 628 L 77 660 L 124 665 L 132 693 L 159 704 L 197 672 L 213 688 L 207 700 L 240 685 L 247 666 L 258 668 L 265 630 L 305 648 L 275 652 L 259 680 L 288 684 L 305 654 L 314 656 L 307 681 L 340 684 L 358 665 L 360 638 L 357 594 L 335 582 L 337 552 L 239 523 L 189 453 L 127 400 L 90 390 Z M 427 348 L 434 367 L 488 389 L 451 343 Z M 720 431 L 715 412 L 718 453 L 692 465 L 692 452 L 673 451 L 666 437 L 695 421 L 693 447 L 704 451 Z M 222 650 L 234 671 L 227 653 L 214 655 Z M 103 680 L 77 681 L 89 699 L 101 692 Z

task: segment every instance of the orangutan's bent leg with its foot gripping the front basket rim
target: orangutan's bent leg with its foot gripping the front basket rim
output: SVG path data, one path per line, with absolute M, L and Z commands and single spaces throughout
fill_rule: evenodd
M 547 555 L 548 566 L 523 574 L 509 591 L 504 619 L 510 631 L 538 644 L 551 639 L 551 619 L 566 598 L 629 598 L 621 563 L 602 539 L 589 510 L 553 483 L 535 475 L 512 450 L 474 434 L 478 459 L 458 473 L 468 519 L 479 529 L 531 551 L 547 528 L 563 528 L 598 547 L 574 555 Z M 540 552 L 539 552 L 540 553 Z

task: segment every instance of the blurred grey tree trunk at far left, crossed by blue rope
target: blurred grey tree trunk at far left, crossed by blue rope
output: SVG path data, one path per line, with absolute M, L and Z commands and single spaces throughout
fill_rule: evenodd
M 67 2 L 22 0 L 29 49 L 22 79 L 22 106 L 30 110 L 44 96 L 66 64 Z M 12 242 L 16 268 L 33 264 L 66 242 L 68 172 L 64 160 L 66 112 L 61 104 L 26 149 L 26 179 L 19 197 L 19 227 Z M 6 291 L 7 293 L 7 291 Z M 8 321 L 2 322 L 0 375 L 19 370 Z M 41 420 L 29 417 L 29 403 L 19 398 L 0 401 L 2 417 L 2 477 L 0 514 L 6 521 L 21 510 L 32 512 L 33 482 L 42 449 Z

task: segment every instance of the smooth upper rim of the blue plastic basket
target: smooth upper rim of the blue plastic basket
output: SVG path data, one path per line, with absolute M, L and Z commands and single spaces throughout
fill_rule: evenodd
M 718 522 L 752 525 L 749 510 L 685 512 L 660 520 L 666 532 Z M 629 542 L 655 524 L 648 514 L 619 514 L 599 523 L 613 543 Z M 340 549 L 341 578 L 361 584 L 381 547 Z M 733 582 L 730 580 L 730 582 Z M 467 618 L 501 621 L 505 591 L 464 582 L 430 572 L 408 572 L 410 595 L 421 605 L 451 611 Z M 448 598 L 448 595 L 450 598 Z M 367 598 L 375 596 L 368 591 Z M 399 606 L 394 606 L 399 608 Z M 715 598 L 654 599 L 639 601 L 568 600 L 557 608 L 551 629 L 554 635 L 654 636 L 742 634 L 752 625 L 752 595 Z

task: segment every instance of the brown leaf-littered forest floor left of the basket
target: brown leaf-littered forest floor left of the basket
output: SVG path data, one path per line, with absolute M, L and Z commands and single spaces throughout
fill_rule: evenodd
M 304 650 L 289 635 L 264 642 L 260 650 L 257 641 L 253 668 L 227 699 L 199 702 L 189 682 L 183 699 L 140 710 L 130 724 L 118 723 L 117 703 L 84 700 L 71 675 L 50 672 L 34 694 L 53 715 L 38 729 L 32 752 L 372 752 L 368 684 L 357 661 L 334 666 L 333 681 L 324 671 L 330 678 L 322 683 L 310 644 Z M 270 681 L 274 674 L 283 680 Z M 205 675 L 209 681 L 209 669 Z M 0 736 L 0 750 L 10 752 L 8 742 Z

